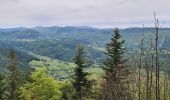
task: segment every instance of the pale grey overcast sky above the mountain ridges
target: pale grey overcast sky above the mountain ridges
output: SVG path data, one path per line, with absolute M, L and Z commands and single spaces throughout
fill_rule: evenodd
M 147 27 L 154 11 L 170 27 L 170 0 L 0 0 L 0 28 L 35 26 Z

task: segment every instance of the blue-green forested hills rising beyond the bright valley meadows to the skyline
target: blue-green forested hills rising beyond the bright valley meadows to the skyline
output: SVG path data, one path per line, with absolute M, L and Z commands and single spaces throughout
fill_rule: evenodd
M 140 46 L 143 36 L 143 28 L 120 29 L 128 49 Z M 145 42 L 154 39 L 154 28 L 144 29 Z M 169 49 L 170 28 L 159 29 L 160 48 Z M 0 41 L 4 45 L 17 49 L 18 52 L 27 54 L 31 51 L 35 54 L 72 61 L 74 50 L 81 44 L 86 48 L 87 56 L 93 62 L 101 63 L 104 59 L 104 47 L 110 41 L 112 29 L 97 29 L 92 27 L 34 27 L 34 28 L 11 28 L 0 29 Z M 149 44 L 148 44 L 149 45 Z M 147 46 L 147 45 L 146 45 Z M 2 46 L 4 48 L 5 46 Z

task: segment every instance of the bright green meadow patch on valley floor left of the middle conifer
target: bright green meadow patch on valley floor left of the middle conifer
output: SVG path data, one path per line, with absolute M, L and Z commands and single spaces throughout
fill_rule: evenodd
M 73 74 L 74 63 L 65 62 L 57 59 L 51 59 L 49 57 L 36 55 L 40 60 L 33 60 L 29 62 L 29 66 L 34 69 L 41 69 L 42 66 L 46 66 L 49 75 L 55 79 L 65 80 L 70 79 Z

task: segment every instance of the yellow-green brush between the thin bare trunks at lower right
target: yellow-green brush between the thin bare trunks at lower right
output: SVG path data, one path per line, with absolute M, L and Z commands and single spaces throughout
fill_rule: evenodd
M 133 99 L 132 100 L 138 100 L 139 99 L 139 95 L 138 95 L 138 85 L 139 85 L 139 81 L 138 81 L 138 69 L 134 70 L 135 72 L 133 74 L 131 74 L 131 78 L 132 81 L 129 83 L 129 90 L 131 91 L 132 95 L 133 95 Z M 140 83 L 140 97 L 141 100 L 147 100 L 147 88 L 146 88 L 146 84 L 147 84 L 147 75 L 146 75 L 146 70 L 142 69 L 141 70 L 141 83 Z M 155 84 L 156 84 L 156 77 L 155 77 L 155 73 L 150 73 L 149 77 L 151 76 L 151 74 L 153 75 L 152 77 L 152 86 L 151 86 L 151 97 L 149 100 L 156 100 L 155 98 Z M 160 100 L 170 100 L 169 94 L 170 94 L 170 80 L 169 80 L 169 75 L 162 72 L 160 74 Z M 129 77 L 130 79 L 130 77 Z M 151 81 L 151 80 L 150 80 Z

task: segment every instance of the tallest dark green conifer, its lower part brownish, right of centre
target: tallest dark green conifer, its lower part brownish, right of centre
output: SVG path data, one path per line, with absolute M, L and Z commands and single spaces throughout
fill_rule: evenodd
M 123 59 L 124 41 L 121 41 L 118 28 L 115 28 L 113 32 L 111 42 L 106 44 L 107 58 L 103 68 L 105 75 L 102 84 L 102 100 L 129 100 L 131 96 L 127 89 L 127 78 L 130 71 L 125 65 L 126 60 Z

